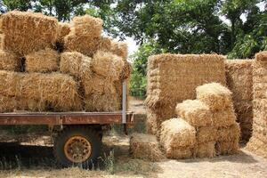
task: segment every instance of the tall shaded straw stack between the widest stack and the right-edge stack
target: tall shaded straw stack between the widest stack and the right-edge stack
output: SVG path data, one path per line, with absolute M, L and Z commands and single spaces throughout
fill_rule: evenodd
M 233 93 L 234 109 L 241 128 L 241 139 L 247 142 L 252 134 L 254 60 L 227 60 L 226 80 Z

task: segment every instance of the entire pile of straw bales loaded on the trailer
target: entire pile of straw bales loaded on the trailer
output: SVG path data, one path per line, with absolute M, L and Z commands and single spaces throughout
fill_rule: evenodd
M 117 85 L 130 75 L 127 47 L 102 37 L 101 26 L 88 15 L 69 24 L 40 13 L 5 13 L 0 111 L 121 109 Z

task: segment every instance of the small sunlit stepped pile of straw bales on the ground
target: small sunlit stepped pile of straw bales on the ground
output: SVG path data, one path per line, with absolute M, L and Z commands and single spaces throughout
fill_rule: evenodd
M 167 158 L 212 158 L 239 150 L 239 124 L 231 92 L 218 83 L 197 87 L 197 100 L 177 104 L 180 118 L 161 125 L 160 142 Z

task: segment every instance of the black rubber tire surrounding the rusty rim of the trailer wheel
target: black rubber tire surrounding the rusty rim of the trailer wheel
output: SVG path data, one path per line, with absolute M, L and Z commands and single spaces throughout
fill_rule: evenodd
M 75 136 L 83 137 L 91 144 L 90 157 L 87 158 L 85 161 L 79 163 L 69 160 L 64 151 L 65 144 L 67 144 L 70 138 L 73 138 Z M 54 156 L 61 164 L 61 166 L 64 167 L 81 166 L 85 169 L 92 168 L 101 155 L 101 149 L 102 144 L 99 134 L 92 128 L 88 128 L 85 126 L 66 127 L 65 129 L 63 129 L 63 131 L 61 131 L 61 133 L 56 136 L 53 144 Z

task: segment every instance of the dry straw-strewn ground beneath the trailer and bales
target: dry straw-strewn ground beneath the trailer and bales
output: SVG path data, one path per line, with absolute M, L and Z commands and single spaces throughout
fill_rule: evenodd
M 131 108 L 142 115 L 142 101 L 134 100 Z M 142 119 L 142 118 L 141 118 Z M 139 126 L 139 131 L 142 126 Z M 241 149 L 239 154 L 216 158 L 169 160 L 150 162 L 131 158 L 129 136 L 113 131 L 103 138 L 104 154 L 94 171 L 77 167 L 61 168 L 53 158 L 53 147 L 48 135 L 36 134 L 35 140 L 26 137 L 14 142 L 3 136 L 0 144 L 0 178 L 44 177 L 267 177 L 267 159 Z M 20 138 L 18 136 L 17 138 Z M 11 140 L 12 142 L 6 142 Z

